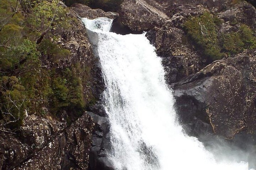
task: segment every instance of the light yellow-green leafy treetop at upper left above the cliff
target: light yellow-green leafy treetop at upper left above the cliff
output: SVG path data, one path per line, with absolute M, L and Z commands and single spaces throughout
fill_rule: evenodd
M 59 0 L 23 0 L 22 6 L 30 13 L 26 20 L 26 32 L 37 44 L 52 30 L 69 27 L 67 10 Z

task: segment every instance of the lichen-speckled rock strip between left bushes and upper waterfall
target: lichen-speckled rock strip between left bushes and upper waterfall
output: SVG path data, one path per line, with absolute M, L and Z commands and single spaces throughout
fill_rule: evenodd
M 66 7 L 66 10 L 66 17 L 69 23 L 66 23 L 66 27 L 63 27 L 63 29 L 52 30 L 51 33 L 55 36 L 54 42 L 69 50 L 71 55 L 59 59 L 55 67 L 57 71 L 62 70 L 62 72 L 65 72 L 64 70 L 69 68 L 80 72 L 76 76 L 81 80 L 82 100 L 85 105 L 88 105 L 91 101 L 98 99 L 99 94 L 104 89 L 99 61 L 94 56 L 92 45 L 87 38 L 82 20 L 72 9 Z M 46 38 L 51 39 L 51 37 Z M 46 65 L 50 68 L 52 67 L 51 63 Z

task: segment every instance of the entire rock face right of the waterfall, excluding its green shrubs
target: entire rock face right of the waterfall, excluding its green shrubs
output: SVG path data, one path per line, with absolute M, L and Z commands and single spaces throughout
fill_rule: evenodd
M 205 12 L 219 20 L 218 39 L 238 31 L 241 24 L 251 29 L 256 26 L 256 10 L 245 1 L 125 0 L 119 10 L 124 25 L 148 31 L 146 36 L 163 58 L 166 81 L 174 88 L 177 111 L 187 132 L 231 139 L 242 131 L 255 131 L 251 122 L 255 116 L 255 54 L 247 51 L 211 63 L 183 26 L 189 17 Z

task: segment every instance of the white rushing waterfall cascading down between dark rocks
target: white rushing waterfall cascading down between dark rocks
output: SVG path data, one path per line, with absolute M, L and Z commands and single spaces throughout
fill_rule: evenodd
M 83 21 L 97 46 L 107 87 L 103 95 L 111 125 L 109 157 L 117 170 L 248 169 L 245 162 L 216 162 L 197 138 L 182 132 L 161 59 L 145 34 L 109 32 L 108 18 Z

